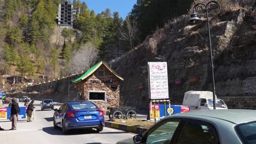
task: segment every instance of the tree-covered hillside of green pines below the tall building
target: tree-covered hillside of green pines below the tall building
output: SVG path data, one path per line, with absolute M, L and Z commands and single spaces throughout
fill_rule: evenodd
M 80 9 L 75 14 L 74 29 L 57 27 L 60 3 L 61 0 L 1 1 L 1 77 L 18 76 L 15 79 L 19 84 L 27 82 L 24 76 L 28 81 L 39 82 L 89 69 L 97 61 L 109 61 L 132 51 L 147 34 L 186 13 L 191 1 L 138 0 L 127 17 L 119 17 L 117 11 L 112 13 L 108 8 L 95 14 L 85 2 L 74 0 L 74 9 Z

